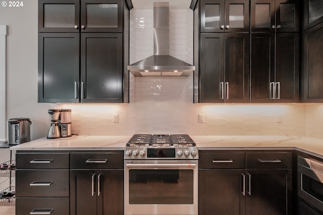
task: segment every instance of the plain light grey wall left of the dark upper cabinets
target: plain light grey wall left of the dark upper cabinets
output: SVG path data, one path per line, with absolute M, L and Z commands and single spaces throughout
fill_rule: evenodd
M 31 138 L 48 130 L 50 104 L 37 103 L 38 1 L 23 1 L 23 7 L 0 7 L 0 25 L 8 25 L 7 116 L 31 119 Z M 1 122 L 3 123 L 3 122 Z

